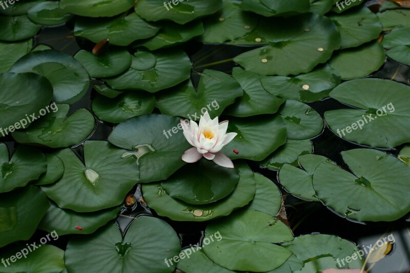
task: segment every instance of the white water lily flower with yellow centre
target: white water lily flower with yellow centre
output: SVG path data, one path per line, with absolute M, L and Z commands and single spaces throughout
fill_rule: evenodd
M 207 111 L 200 117 L 199 127 L 195 121 L 191 120 L 186 124 L 183 119 L 181 119 L 181 126 L 183 135 L 194 146 L 183 153 L 183 161 L 193 163 L 203 156 L 222 167 L 234 167 L 231 159 L 219 152 L 237 135 L 237 133 L 227 134 L 228 120 L 218 123 L 218 117 L 211 119 Z

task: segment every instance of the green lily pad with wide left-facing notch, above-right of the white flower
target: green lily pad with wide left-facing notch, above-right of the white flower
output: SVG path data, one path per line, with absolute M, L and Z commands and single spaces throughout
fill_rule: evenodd
M 234 104 L 224 111 L 224 114 L 236 117 L 275 114 L 285 101 L 263 89 L 261 79 L 265 78 L 264 76 L 250 73 L 238 67 L 232 70 L 232 76 L 240 83 L 243 96 L 237 98 Z

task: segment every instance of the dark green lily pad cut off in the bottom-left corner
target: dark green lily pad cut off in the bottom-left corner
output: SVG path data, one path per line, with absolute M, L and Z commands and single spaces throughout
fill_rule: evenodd
M 40 246 L 40 244 L 36 244 Z M 15 272 L 31 272 L 31 273 L 49 273 L 49 272 L 60 272 L 66 268 L 64 264 L 64 250 L 60 249 L 54 245 L 41 245 L 41 248 L 35 249 L 35 251 L 30 251 L 29 254 L 20 257 L 14 263 L 5 264 L 7 267 L 2 266 L 2 273 L 15 273 Z M 29 251 L 27 246 L 16 246 L 9 249 L 6 253 L 0 256 L 0 259 L 5 261 L 16 253 L 19 253 L 23 249 Z M 30 248 L 33 250 L 32 248 Z M 26 252 L 24 251 L 24 253 Z M 15 257 L 14 257 L 15 258 Z

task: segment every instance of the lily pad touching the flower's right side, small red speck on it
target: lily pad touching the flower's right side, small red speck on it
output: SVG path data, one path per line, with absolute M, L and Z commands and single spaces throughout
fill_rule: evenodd
M 286 127 L 279 115 L 230 118 L 228 132 L 238 134 L 221 150 L 231 159 L 260 161 L 286 142 Z

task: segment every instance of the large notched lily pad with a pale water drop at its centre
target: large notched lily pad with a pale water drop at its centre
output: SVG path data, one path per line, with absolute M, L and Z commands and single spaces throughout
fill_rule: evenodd
M 106 141 L 86 141 L 84 164 L 72 150 L 60 150 L 64 175 L 42 190 L 59 207 L 79 213 L 117 206 L 138 182 L 135 160 L 126 154 Z

